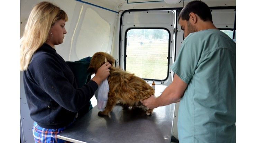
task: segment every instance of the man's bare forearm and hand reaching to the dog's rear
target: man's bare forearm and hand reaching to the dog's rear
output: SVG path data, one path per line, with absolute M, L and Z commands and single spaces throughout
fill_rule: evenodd
M 155 96 L 151 95 L 150 98 L 141 100 L 140 102 L 149 109 L 179 102 L 187 86 L 188 84 L 181 80 L 177 74 L 175 74 L 172 83 L 167 86 L 159 97 L 156 98 Z

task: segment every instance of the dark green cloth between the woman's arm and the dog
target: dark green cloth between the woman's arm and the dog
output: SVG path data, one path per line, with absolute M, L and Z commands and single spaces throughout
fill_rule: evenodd
M 89 68 L 89 64 L 91 61 L 91 57 L 83 58 L 79 61 L 66 61 L 68 67 L 72 70 L 75 75 L 75 79 L 77 82 L 77 87 L 81 88 L 84 84 L 91 80 L 91 73 L 87 70 Z M 87 103 L 84 108 L 82 108 L 78 113 L 78 119 L 82 117 L 85 113 L 92 109 L 91 101 Z

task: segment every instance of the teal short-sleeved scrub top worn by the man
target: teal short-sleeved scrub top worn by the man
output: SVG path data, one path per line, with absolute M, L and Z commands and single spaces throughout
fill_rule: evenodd
M 188 87 L 180 100 L 180 143 L 236 142 L 236 43 L 216 29 L 190 33 L 171 69 Z

